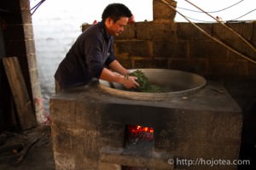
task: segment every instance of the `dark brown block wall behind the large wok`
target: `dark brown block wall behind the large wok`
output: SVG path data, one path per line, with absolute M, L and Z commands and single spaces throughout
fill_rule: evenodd
M 211 36 L 256 59 L 253 48 L 218 23 L 197 24 Z M 232 23 L 230 28 L 256 44 L 256 22 Z M 256 65 L 204 35 L 189 23 L 139 22 L 115 38 L 115 55 L 129 68 L 168 68 L 205 77 L 255 78 Z

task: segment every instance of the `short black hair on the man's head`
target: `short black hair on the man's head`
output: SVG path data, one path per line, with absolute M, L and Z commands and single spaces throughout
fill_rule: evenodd
M 102 22 L 110 17 L 113 22 L 119 20 L 121 17 L 131 17 L 131 10 L 122 3 L 111 3 L 104 9 L 102 13 Z

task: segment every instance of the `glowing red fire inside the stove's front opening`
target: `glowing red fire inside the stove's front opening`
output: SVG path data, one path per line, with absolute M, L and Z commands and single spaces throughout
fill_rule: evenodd
M 128 140 L 137 143 L 138 141 L 153 141 L 154 128 L 128 125 Z

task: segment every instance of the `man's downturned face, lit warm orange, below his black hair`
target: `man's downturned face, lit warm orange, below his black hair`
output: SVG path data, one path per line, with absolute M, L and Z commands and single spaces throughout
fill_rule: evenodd
M 121 17 L 116 22 L 113 22 L 111 18 L 108 18 L 105 22 L 108 34 L 112 36 L 119 36 L 119 34 L 125 31 L 125 26 L 127 26 L 128 20 L 128 17 Z

